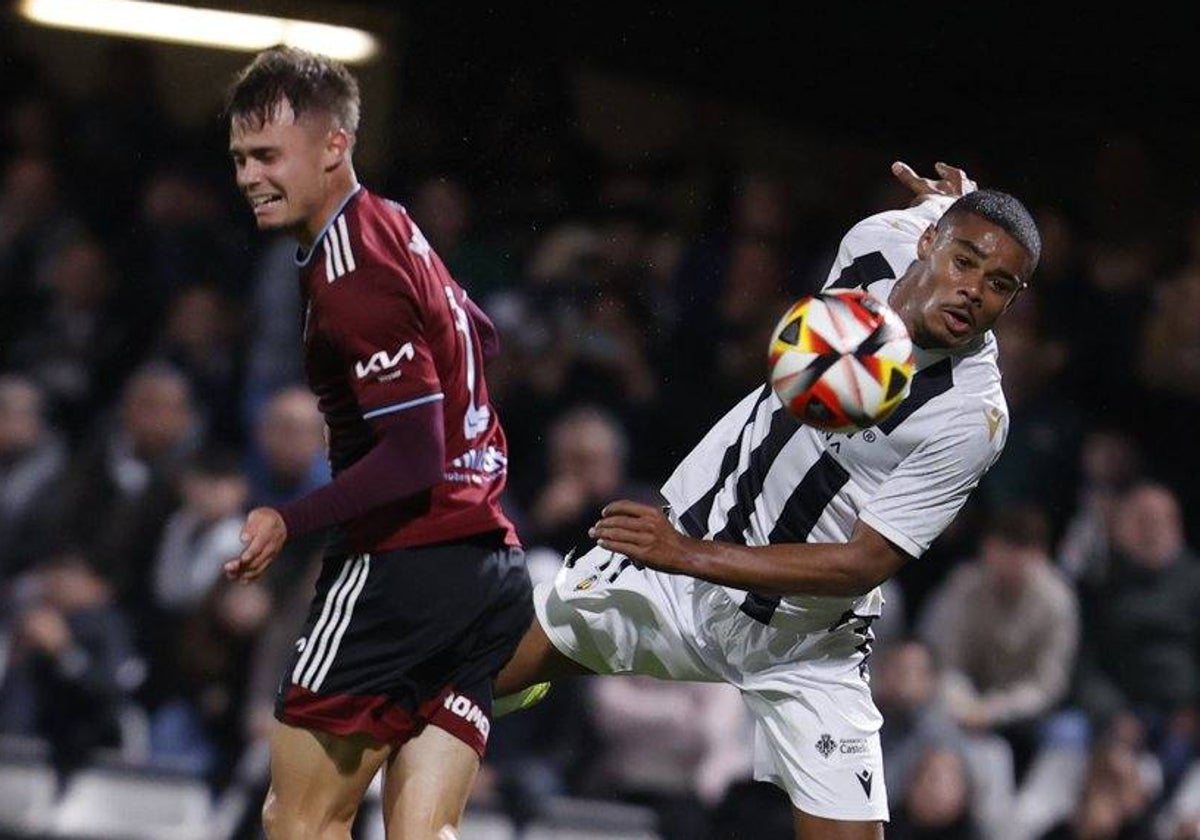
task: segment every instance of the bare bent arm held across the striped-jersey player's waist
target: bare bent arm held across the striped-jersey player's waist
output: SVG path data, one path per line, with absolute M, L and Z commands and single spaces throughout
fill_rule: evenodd
M 606 505 L 588 534 L 652 569 L 768 595 L 862 595 L 908 559 L 863 522 L 848 542 L 742 546 L 688 536 L 658 508 L 628 500 Z

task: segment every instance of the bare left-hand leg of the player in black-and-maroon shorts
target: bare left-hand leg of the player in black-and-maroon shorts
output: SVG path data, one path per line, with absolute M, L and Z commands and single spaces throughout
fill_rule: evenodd
M 271 731 L 271 787 L 263 805 L 270 838 L 322 838 L 354 822 L 391 748 L 362 734 L 334 736 L 287 724 Z

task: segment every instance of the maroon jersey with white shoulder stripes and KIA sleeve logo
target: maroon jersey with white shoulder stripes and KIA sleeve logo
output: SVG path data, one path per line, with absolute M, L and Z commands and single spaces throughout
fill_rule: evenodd
M 344 547 L 383 551 L 494 530 L 517 545 L 499 504 L 504 430 L 484 379 L 494 328 L 404 208 L 359 187 L 296 263 L 305 373 L 329 426 L 335 476 L 376 445 L 373 419 L 443 403 L 443 479 L 344 523 Z

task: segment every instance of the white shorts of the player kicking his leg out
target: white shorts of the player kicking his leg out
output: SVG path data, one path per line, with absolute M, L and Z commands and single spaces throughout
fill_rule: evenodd
M 887 821 L 869 630 L 836 611 L 763 624 L 739 595 L 596 547 L 538 586 L 534 607 L 554 647 L 596 673 L 736 685 L 755 722 L 755 779 L 805 814 Z

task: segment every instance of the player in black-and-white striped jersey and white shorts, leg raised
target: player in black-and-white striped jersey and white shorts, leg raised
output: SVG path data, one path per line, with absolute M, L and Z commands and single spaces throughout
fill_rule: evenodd
M 856 224 L 826 287 L 865 288 L 899 313 L 916 346 L 910 396 L 871 428 L 830 434 L 769 385 L 748 394 L 662 486 L 665 510 L 604 509 L 595 547 L 535 589 L 538 620 L 497 683 L 499 696 L 571 673 L 732 683 L 756 725 L 755 776 L 788 793 L 805 840 L 882 836 L 866 670 L 878 584 L 1000 456 L 1008 410 L 990 328 L 1040 253 L 1012 196 L 971 190 L 953 168 L 937 181 L 893 172 L 918 200 Z

